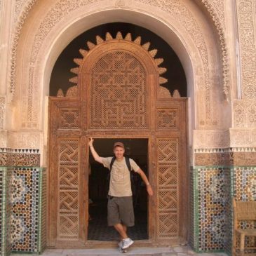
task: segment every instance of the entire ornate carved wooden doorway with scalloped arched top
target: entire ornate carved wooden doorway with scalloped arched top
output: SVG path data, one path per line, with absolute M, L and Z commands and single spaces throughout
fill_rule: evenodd
M 88 137 L 148 140 L 148 243 L 187 240 L 186 99 L 161 86 L 163 60 L 140 42 L 121 33 L 88 42 L 74 60 L 76 85 L 50 97 L 49 246 L 88 245 Z

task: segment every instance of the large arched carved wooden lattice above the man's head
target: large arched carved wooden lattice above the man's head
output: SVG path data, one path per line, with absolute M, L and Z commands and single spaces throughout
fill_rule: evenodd
M 90 128 L 148 128 L 146 73 L 133 55 L 107 53 L 90 81 Z

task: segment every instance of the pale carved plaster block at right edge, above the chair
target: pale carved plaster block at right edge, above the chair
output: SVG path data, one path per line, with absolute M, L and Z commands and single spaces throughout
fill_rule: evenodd
M 256 147 L 256 129 L 230 129 L 230 147 Z

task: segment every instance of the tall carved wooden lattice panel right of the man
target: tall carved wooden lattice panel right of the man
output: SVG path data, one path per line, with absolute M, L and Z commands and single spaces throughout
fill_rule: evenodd
M 178 139 L 158 140 L 159 238 L 177 237 L 178 218 Z

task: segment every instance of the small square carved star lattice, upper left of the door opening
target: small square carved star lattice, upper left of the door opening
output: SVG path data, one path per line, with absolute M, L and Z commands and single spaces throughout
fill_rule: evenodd
M 80 109 L 60 109 L 60 129 L 80 128 Z

